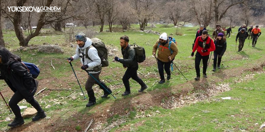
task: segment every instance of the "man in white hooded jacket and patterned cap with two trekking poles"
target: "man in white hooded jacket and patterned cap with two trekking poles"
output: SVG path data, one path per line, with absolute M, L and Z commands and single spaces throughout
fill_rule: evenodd
M 85 88 L 89 97 L 89 101 L 86 104 L 86 107 L 91 107 L 92 105 L 96 104 L 96 97 L 92 89 L 92 86 L 94 84 L 99 85 L 99 88 L 104 91 L 104 94 L 101 96 L 101 98 L 107 98 L 108 95 L 112 93 L 112 91 L 110 88 L 107 87 L 107 85 L 105 85 L 104 82 L 101 82 L 101 80 L 99 79 L 99 74 L 101 73 L 102 64 L 101 64 L 101 59 L 98 56 L 97 49 L 94 46 L 91 46 L 92 45 L 91 39 L 87 38 L 86 35 L 82 32 L 78 33 L 75 36 L 75 38 L 76 38 L 76 44 L 78 45 L 76 46 L 76 54 L 70 58 L 67 58 L 67 60 L 70 62 L 80 58 L 80 61 L 82 63 L 81 69 L 87 70 L 92 76 L 94 76 L 101 83 L 101 85 L 103 85 L 110 92 L 109 93 L 105 88 L 103 88 L 92 76 L 88 75 Z M 88 50 L 87 54 L 89 58 L 86 57 L 86 50 Z

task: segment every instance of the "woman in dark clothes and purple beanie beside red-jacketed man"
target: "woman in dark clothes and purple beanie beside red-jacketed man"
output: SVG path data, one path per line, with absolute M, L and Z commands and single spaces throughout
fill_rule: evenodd
M 213 69 L 213 71 L 216 71 L 217 59 L 218 59 L 217 68 L 220 69 L 221 59 L 222 59 L 224 52 L 226 51 L 226 40 L 223 38 L 223 36 L 224 36 L 223 33 L 219 33 L 217 35 L 217 39 L 216 39 L 215 44 L 214 44 L 215 50 L 214 50 L 214 69 Z

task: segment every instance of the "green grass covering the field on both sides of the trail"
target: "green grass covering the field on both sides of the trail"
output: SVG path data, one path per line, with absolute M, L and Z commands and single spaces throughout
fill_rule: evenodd
M 161 26 L 163 26 L 161 24 L 157 24 L 156 26 L 157 28 L 146 28 L 146 29 L 151 29 L 153 31 L 157 31 L 161 33 L 166 32 L 168 35 L 170 33 L 174 34 L 176 32 L 176 28 L 172 28 L 173 25 L 170 25 L 171 26 L 170 28 L 161 28 Z M 104 29 L 105 31 L 108 26 L 104 26 L 104 27 L 105 27 Z M 90 27 L 90 28 L 99 31 L 98 27 Z M 176 41 L 178 42 L 178 49 L 179 49 L 179 53 L 176 55 L 174 63 L 179 68 L 179 70 L 182 71 L 184 76 L 188 78 L 188 80 L 193 80 L 193 78 L 196 75 L 195 68 L 194 68 L 195 57 L 190 58 L 189 56 L 192 51 L 191 49 L 192 43 L 194 41 L 195 33 L 197 29 L 198 29 L 197 27 L 181 27 L 180 30 L 182 30 L 183 35 L 185 36 L 173 35 L 173 37 L 176 38 Z M 45 31 L 48 29 L 43 29 L 43 30 Z M 237 30 L 237 28 L 233 29 L 233 31 L 235 30 Z M 265 29 L 261 28 L 261 30 L 263 31 Z M 43 43 L 59 44 L 64 50 L 63 54 L 46 54 L 46 53 L 40 53 L 37 50 L 29 50 L 26 52 L 16 51 L 16 49 L 19 48 L 19 41 L 17 40 L 16 35 L 14 34 L 14 31 L 7 30 L 7 32 L 5 32 L 4 30 L 3 32 L 4 32 L 3 34 L 4 40 L 5 42 L 8 42 L 8 44 L 6 44 L 6 47 L 8 49 L 13 51 L 17 55 L 20 55 L 22 60 L 39 65 L 39 68 L 41 70 L 41 73 L 38 77 L 39 81 L 42 81 L 42 80 L 46 81 L 45 79 L 53 80 L 53 78 L 61 80 L 61 82 L 56 82 L 56 81 L 47 82 L 49 84 L 48 86 L 46 86 L 47 88 L 60 87 L 63 84 L 67 84 L 66 88 L 80 90 L 79 85 L 77 84 L 76 79 L 73 76 L 72 69 L 70 65 L 68 64 L 68 62 L 66 61 L 66 58 L 68 58 L 69 56 L 75 53 L 75 48 L 61 46 L 62 44 L 66 43 L 65 38 L 64 38 L 65 36 L 64 33 L 54 32 L 54 31 L 52 31 L 51 33 L 43 33 L 33 38 L 29 42 L 29 45 L 42 45 Z M 209 33 L 212 34 L 212 32 L 213 32 L 213 29 L 210 29 Z M 145 48 L 147 61 L 148 60 L 150 61 L 151 59 L 153 59 L 154 61 L 154 58 L 148 57 L 148 56 L 151 56 L 152 47 L 154 43 L 156 42 L 156 40 L 158 39 L 159 35 L 139 32 L 139 25 L 132 24 L 131 29 L 128 29 L 127 32 L 113 32 L 113 33 L 103 32 L 103 33 L 97 34 L 95 37 L 101 39 L 107 45 L 114 45 L 114 46 L 117 46 L 118 49 L 120 49 L 119 38 L 123 35 L 129 36 L 130 44 L 136 43 Z M 260 36 L 255 48 L 251 46 L 248 47 L 249 41 L 246 40 L 245 46 L 242 52 L 236 52 L 237 49 L 235 49 L 235 35 L 236 33 L 232 33 L 230 35 L 231 38 L 227 38 L 227 49 L 226 49 L 225 54 L 223 55 L 222 62 L 221 62 L 221 67 L 223 69 L 251 67 L 252 65 L 253 66 L 259 65 L 265 60 L 264 59 L 264 55 L 265 55 L 264 35 Z M 42 36 L 46 36 L 46 37 L 42 37 Z M 36 55 L 32 55 L 33 53 Z M 122 56 L 119 56 L 119 57 L 122 57 Z M 51 67 L 51 60 L 53 62 L 53 66 L 55 67 L 55 70 Z M 112 60 L 112 58 L 110 58 L 110 60 Z M 81 86 L 83 90 L 85 90 L 84 85 L 87 79 L 87 75 L 84 71 L 80 71 L 79 60 L 73 61 L 72 64 L 73 64 L 74 70 L 76 71 L 78 79 L 81 83 Z M 212 64 L 213 64 L 213 60 L 210 60 L 209 67 L 207 69 L 208 75 L 214 74 L 214 72 L 211 71 Z M 125 70 L 126 69 L 122 67 L 122 64 L 111 62 L 108 67 L 103 68 L 100 78 L 101 80 L 104 80 L 104 82 L 106 82 L 107 85 L 117 84 L 119 82 L 122 82 L 122 76 Z M 159 90 L 159 92 L 164 92 L 165 88 L 172 88 L 172 87 L 178 86 L 179 84 L 186 82 L 186 79 L 179 73 L 176 67 L 174 67 L 170 81 L 167 81 L 166 83 L 162 85 L 155 84 L 154 86 L 151 87 L 153 82 L 155 82 L 156 80 L 159 80 L 157 64 L 155 63 L 155 61 L 154 63 L 151 63 L 148 66 L 140 64 L 138 71 L 140 71 L 141 73 L 145 75 L 147 75 L 148 72 L 154 75 L 154 77 L 147 76 L 145 78 L 142 75 L 139 75 L 143 79 L 144 82 L 148 82 L 147 85 L 149 86 L 149 88 L 146 89 L 147 92 L 153 91 L 153 90 Z M 222 72 L 222 71 L 217 70 L 217 72 Z M 248 73 L 251 73 L 251 72 L 247 72 L 246 74 Z M 218 78 L 218 76 L 212 76 L 212 79 L 214 78 Z M 231 77 L 229 79 L 224 80 L 223 83 L 232 82 L 233 79 L 236 79 L 236 78 L 237 77 Z M 253 85 L 257 85 L 257 86 L 264 85 L 264 82 L 261 81 L 262 79 L 264 79 L 263 74 L 260 76 L 256 75 L 255 79 L 256 80 L 252 80 L 249 83 L 245 82 L 246 84 L 239 83 L 239 84 L 232 85 L 233 90 L 223 93 L 222 95 L 222 97 L 232 96 L 232 97 L 241 98 L 241 100 L 238 100 L 238 101 L 225 100 L 225 101 L 220 101 L 220 102 L 212 101 L 210 103 L 199 102 L 195 104 L 194 106 L 176 108 L 173 110 L 165 110 L 165 109 L 162 109 L 161 107 L 154 107 L 153 109 L 145 111 L 145 113 L 154 113 L 156 110 L 159 110 L 161 111 L 161 114 L 157 114 L 157 116 L 147 118 L 144 125 L 139 126 L 136 129 L 138 129 L 139 131 L 140 130 L 141 131 L 162 131 L 161 127 L 163 126 L 164 128 L 163 130 L 173 129 L 175 131 L 224 131 L 225 129 L 227 130 L 236 129 L 233 131 L 237 131 L 239 130 L 239 128 L 243 129 L 244 127 L 246 127 L 247 130 L 249 130 L 249 126 L 251 125 L 251 123 L 254 122 L 253 117 L 257 117 L 258 119 L 258 117 L 264 116 L 264 114 L 262 113 L 264 110 L 262 110 L 263 108 L 261 107 L 262 105 L 264 106 L 264 104 L 262 103 L 262 101 L 260 101 L 262 98 L 255 100 L 255 98 L 258 98 L 259 96 L 262 97 L 261 95 L 264 94 L 264 89 L 261 89 L 261 88 L 259 89 L 261 93 L 258 96 L 256 95 L 252 97 L 252 95 L 251 96 L 248 95 L 248 93 L 252 93 L 252 92 L 259 93 L 260 92 L 260 91 L 253 91 L 253 89 L 257 90 L 256 88 L 253 87 Z M 251 82 L 253 83 L 252 85 L 251 85 Z M 216 83 L 219 83 L 219 82 L 216 82 Z M 0 90 L 8 87 L 8 86 L 4 86 L 4 84 L 5 82 L 1 80 Z M 247 86 L 243 87 L 243 85 L 247 85 Z M 109 104 L 114 103 L 115 101 L 122 101 L 123 98 L 137 97 L 138 89 L 140 88 L 139 84 L 137 84 L 136 81 L 131 79 L 130 86 L 131 86 L 131 92 L 132 92 L 131 96 L 122 97 L 120 93 L 122 93 L 125 88 L 124 87 L 118 88 L 113 91 L 115 93 L 121 90 L 121 92 L 118 95 L 115 95 L 117 97 L 116 100 L 112 97 L 109 99 L 101 99 L 99 95 L 96 95 L 97 105 L 107 106 Z M 42 89 L 42 88 L 45 88 L 45 87 L 44 86 L 39 87 L 39 89 Z M 38 95 L 37 101 L 39 101 L 40 105 L 43 108 L 46 106 L 46 104 L 52 105 L 51 108 L 44 109 L 44 110 L 46 111 L 46 113 L 48 113 L 48 116 L 60 117 L 62 120 L 67 120 L 68 119 L 67 117 L 71 116 L 71 113 L 81 113 L 84 115 L 85 114 L 91 115 L 96 112 L 95 110 L 93 110 L 93 107 L 90 107 L 90 108 L 85 107 L 88 100 L 83 100 L 83 97 L 80 95 L 77 95 L 76 100 L 71 100 L 71 99 L 63 100 L 62 102 L 66 101 L 66 103 L 62 105 L 54 104 L 54 102 L 51 101 L 54 99 L 62 100 L 63 98 L 61 97 L 65 98 L 72 93 L 73 91 L 51 91 L 49 95 L 45 95 L 43 97 L 42 97 L 42 94 Z M 5 93 L 2 93 L 2 94 L 5 96 Z M 176 94 L 176 93 L 172 93 L 172 94 Z M 247 95 L 249 97 L 247 98 L 245 102 L 239 105 L 236 105 L 238 104 L 239 101 L 240 102 L 244 101 L 244 98 L 247 97 Z M 217 96 L 216 98 L 219 98 L 219 97 L 220 96 Z M 5 98 L 5 99 L 6 101 L 8 101 L 10 98 Z M 162 102 L 165 100 L 167 100 L 167 98 L 164 98 Z M 44 101 L 46 102 L 46 104 Z M 249 101 L 252 101 L 253 104 L 251 104 Z M 260 103 L 260 105 L 259 104 L 254 105 L 257 103 Z M 247 106 L 246 104 L 248 104 L 249 106 Z M 30 105 L 26 102 L 19 103 L 19 105 L 26 105 L 30 107 Z M 259 108 L 257 106 L 259 106 Z M 10 113 L 2 112 L 2 110 L 6 110 L 3 104 L 1 104 L 1 107 L 2 108 L 0 109 L 1 110 L 0 112 L 1 112 L 2 118 L 0 118 L 0 120 L 4 120 L 6 117 L 11 117 Z M 245 109 L 244 107 L 247 107 L 247 109 Z M 201 110 L 209 110 L 210 113 L 203 113 L 201 112 Z M 243 110 L 244 113 L 248 113 L 249 115 L 251 115 L 252 118 L 248 118 L 249 120 L 252 119 L 250 124 L 246 123 L 246 121 L 248 120 L 244 120 L 246 119 L 245 117 L 244 118 L 242 117 L 242 119 L 239 119 L 239 117 L 237 116 L 235 116 L 235 118 L 231 118 L 231 114 L 235 115 L 235 114 L 240 113 L 238 110 L 239 111 Z M 255 112 L 257 112 L 257 110 L 260 110 L 261 113 L 256 114 Z M 23 110 L 21 112 L 23 112 Z M 137 114 L 137 110 L 130 111 L 129 113 L 130 113 L 129 118 L 128 118 L 129 122 L 126 124 L 136 123 L 142 120 L 142 119 L 134 119 L 134 117 Z M 117 116 L 115 118 L 108 119 L 108 121 L 111 123 L 112 121 L 115 121 L 118 118 L 122 118 L 122 117 Z M 218 122 L 215 119 L 217 119 Z M 241 122 L 238 122 L 238 121 L 241 121 Z M 264 122 L 263 118 L 262 118 L 262 121 Z M 26 123 L 31 122 L 31 119 L 28 118 L 25 120 L 25 122 Z M 8 123 L 9 122 L 1 122 L 0 128 L 5 128 Z

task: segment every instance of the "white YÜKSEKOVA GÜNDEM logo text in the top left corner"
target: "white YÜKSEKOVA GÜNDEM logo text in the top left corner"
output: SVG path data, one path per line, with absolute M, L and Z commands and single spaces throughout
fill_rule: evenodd
M 11 6 L 8 7 L 9 12 L 61 12 L 61 7 L 32 7 L 32 6 Z

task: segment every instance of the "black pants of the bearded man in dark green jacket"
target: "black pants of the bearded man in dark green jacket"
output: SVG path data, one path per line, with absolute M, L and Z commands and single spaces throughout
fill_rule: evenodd
M 125 74 L 122 77 L 123 84 L 125 86 L 126 91 L 131 91 L 130 90 L 130 83 L 129 79 L 132 78 L 136 82 L 138 82 L 141 86 L 144 86 L 145 83 L 142 81 L 139 76 L 137 76 L 137 70 L 138 70 L 138 65 L 136 67 L 128 67 L 127 70 L 125 71 Z

